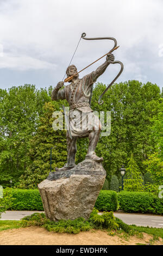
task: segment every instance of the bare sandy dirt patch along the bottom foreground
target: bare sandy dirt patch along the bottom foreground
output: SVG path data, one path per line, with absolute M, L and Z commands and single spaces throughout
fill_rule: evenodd
M 143 239 L 131 236 L 129 241 L 118 236 L 110 236 L 106 231 L 85 231 L 79 234 L 53 233 L 45 228 L 28 227 L 0 232 L 0 245 L 136 245 L 148 244 L 152 236 L 143 233 Z M 161 245 L 161 239 L 155 241 Z

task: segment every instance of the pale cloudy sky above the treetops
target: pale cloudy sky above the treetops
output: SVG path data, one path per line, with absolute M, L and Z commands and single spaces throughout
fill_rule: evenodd
M 83 32 L 117 39 L 115 59 L 124 64 L 117 82 L 150 81 L 162 88 L 162 10 L 162 0 L 0 0 L 0 88 L 56 86 Z M 109 40 L 82 39 L 72 64 L 79 71 L 112 47 Z M 108 84 L 119 70 L 110 65 L 98 81 Z

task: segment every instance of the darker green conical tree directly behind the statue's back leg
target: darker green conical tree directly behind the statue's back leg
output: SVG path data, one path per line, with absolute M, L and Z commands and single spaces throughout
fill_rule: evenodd
M 52 114 L 56 102 L 45 103 L 43 117 L 40 118 L 40 126 L 36 135 L 30 140 L 29 159 L 31 164 L 21 176 L 17 187 L 36 188 L 42 180 L 46 179 L 50 171 L 50 150 L 52 151 L 52 170 L 62 167 L 66 163 L 66 132 L 54 131 Z

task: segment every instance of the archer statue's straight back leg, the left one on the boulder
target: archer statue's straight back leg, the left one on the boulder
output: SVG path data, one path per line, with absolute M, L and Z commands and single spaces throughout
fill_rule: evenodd
M 70 170 L 75 166 L 75 156 L 77 152 L 77 137 L 72 137 L 72 139 L 66 134 L 67 141 L 67 163 L 62 168 L 55 168 L 55 170 Z

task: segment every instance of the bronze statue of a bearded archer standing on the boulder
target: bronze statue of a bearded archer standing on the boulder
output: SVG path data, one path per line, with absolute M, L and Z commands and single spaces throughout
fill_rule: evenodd
M 98 117 L 93 114 L 89 101 L 93 83 L 105 72 L 108 65 L 114 62 L 114 59 L 114 55 L 109 53 L 106 56 L 106 61 L 101 66 L 83 78 L 79 78 L 76 66 L 68 66 L 66 70 L 67 77 L 73 76 L 69 81 L 70 84 L 60 89 L 64 86 L 64 82 L 59 82 L 52 91 L 52 100 L 66 99 L 70 105 L 69 129 L 66 133 L 67 163 L 64 167 L 55 168 L 55 170 L 69 170 L 75 166 L 77 138 L 89 137 L 89 147 L 85 159 L 97 162 L 103 161 L 103 157 L 98 157 L 95 153 L 102 126 Z M 85 124 L 84 129 L 82 129 L 81 120 Z

